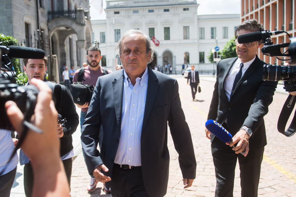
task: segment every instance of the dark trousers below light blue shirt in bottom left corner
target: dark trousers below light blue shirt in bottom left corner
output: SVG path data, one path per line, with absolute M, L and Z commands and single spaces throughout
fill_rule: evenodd
M 10 190 L 14 182 L 16 174 L 16 167 L 12 170 L 7 172 L 5 175 L 0 176 L 0 196 L 1 197 L 9 197 Z

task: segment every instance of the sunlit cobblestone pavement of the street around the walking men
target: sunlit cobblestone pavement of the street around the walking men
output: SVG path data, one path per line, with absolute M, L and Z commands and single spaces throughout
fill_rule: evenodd
M 175 151 L 171 135 L 168 135 L 170 150 L 170 175 L 167 188 L 167 197 L 178 196 L 214 196 L 216 178 L 212 161 L 210 140 L 205 137 L 204 123 L 207 120 L 214 87 L 214 78 L 200 77 L 201 93 L 196 95 L 196 101 L 191 98 L 191 89 L 183 77 L 176 77 L 179 82 L 179 94 L 187 123 L 191 130 L 195 156 L 197 161 L 196 179 L 192 187 L 183 189 L 182 174 L 178 163 L 178 154 Z M 266 197 L 296 197 L 296 155 L 295 136 L 285 137 L 277 131 L 278 116 L 287 98 L 287 94 L 276 92 L 269 113 L 265 116 L 267 143 L 261 165 L 261 176 L 258 196 Z M 242 103 L 243 104 L 243 103 Z M 293 111 L 294 113 L 294 111 Z M 293 114 L 292 113 L 292 114 Z M 291 118 L 290 118 L 291 119 Z M 290 120 L 291 121 L 291 120 Z M 288 122 L 288 124 L 290 123 Z M 169 131 L 169 130 L 168 130 Z M 80 131 L 75 132 L 79 137 Z M 78 140 L 73 137 L 74 141 Z M 81 145 L 80 145 L 81 146 Z M 103 184 L 98 183 L 97 189 L 89 194 L 86 191 L 90 176 L 84 163 L 81 148 L 77 145 L 77 157 L 73 161 L 71 196 L 111 196 L 101 190 Z M 11 196 L 24 196 L 21 191 L 22 171 L 18 170 Z M 17 189 L 18 188 L 18 189 Z M 241 196 L 239 167 L 236 166 L 234 196 Z

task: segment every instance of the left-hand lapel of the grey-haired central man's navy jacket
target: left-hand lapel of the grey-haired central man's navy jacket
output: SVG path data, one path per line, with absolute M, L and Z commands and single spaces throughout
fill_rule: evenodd
M 115 76 L 112 82 L 114 109 L 119 129 L 121 128 L 121 111 L 122 111 L 122 93 L 123 93 L 123 69 Z M 121 99 L 118 99 L 121 98 Z M 116 101 L 116 102 L 115 102 Z

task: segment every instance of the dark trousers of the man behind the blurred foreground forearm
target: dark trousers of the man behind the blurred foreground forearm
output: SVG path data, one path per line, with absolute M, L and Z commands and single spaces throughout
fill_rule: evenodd
M 62 160 L 62 162 L 65 168 L 66 176 L 67 176 L 69 187 L 70 187 L 71 175 L 72 175 L 72 158 Z M 26 163 L 24 166 L 24 189 L 25 189 L 25 195 L 27 197 L 32 196 L 33 183 L 34 183 L 33 168 L 31 163 L 29 162 L 29 163 Z

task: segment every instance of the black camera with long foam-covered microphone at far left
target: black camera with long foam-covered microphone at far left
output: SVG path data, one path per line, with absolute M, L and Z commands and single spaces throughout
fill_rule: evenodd
M 0 69 L 3 71 L 0 73 L 0 129 L 14 130 L 6 115 L 4 104 L 9 100 L 14 101 L 23 112 L 24 120 L 30 122 L 39 91 L 36 86 L 18 86 L 14 83 L 15 72 L 10 58 L 42 59 L 45 53 L 41 49 L 22 46 L 0 46 L 0 49 Z

